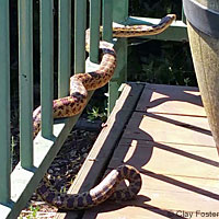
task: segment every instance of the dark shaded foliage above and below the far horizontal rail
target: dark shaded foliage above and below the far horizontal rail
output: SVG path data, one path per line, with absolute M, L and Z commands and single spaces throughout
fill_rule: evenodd
M 130 0 L 129 12 L 136 16 L 182 16 L 182 1 Z M 150 83 L 197 85 L 188 42 L 146 41 L 128 49 L 128 79 Z

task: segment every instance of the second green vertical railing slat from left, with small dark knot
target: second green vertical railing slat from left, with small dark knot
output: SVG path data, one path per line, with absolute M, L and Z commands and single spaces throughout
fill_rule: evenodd
M 21 165 L 33 165 L 33 1 L 19 1 Z

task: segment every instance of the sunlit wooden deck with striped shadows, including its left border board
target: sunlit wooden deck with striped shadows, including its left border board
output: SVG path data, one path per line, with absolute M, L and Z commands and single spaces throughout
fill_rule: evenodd
M 57 218 L 219 218 L 219 158 L 196 88 L 126 85 L 71 192 L 122 163 L 141 173 L 136 200 Z

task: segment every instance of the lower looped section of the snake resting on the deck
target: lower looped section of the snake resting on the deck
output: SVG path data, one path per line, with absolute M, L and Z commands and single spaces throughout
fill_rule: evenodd
M 117 185 L 128 180 L 129 186 L 124 189 L 117 189 Z M 106 199 L 112 200 L 129 200 L 138 194 L 141 187 L 141 177 L 139 172 L 130 165 L 120 165 L 116 170 L 111 171 L 104 180 L 90 189 L 80 194 L 56 193 L 48 189 L 49 183 L 42 182 L 37 192 L 46 203 L 64 210 L 77 210 L 91 208 L 100 205 Z

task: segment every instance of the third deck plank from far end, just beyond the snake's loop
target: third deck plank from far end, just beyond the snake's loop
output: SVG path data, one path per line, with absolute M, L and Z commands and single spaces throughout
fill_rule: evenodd
M 171 177 L 216 180 L 219 187 L 219 161 L 215 147 L 122 139 L 108 168 L 122 163 Z

